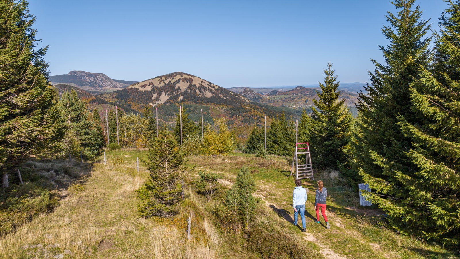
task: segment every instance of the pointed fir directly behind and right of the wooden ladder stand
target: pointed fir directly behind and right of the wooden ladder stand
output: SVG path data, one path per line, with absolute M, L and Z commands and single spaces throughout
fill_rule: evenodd
M 322 92 L 316 91 L 319 100 L 313 100 L 311 124 L 311 156 L 320 167 L 336 168 L 337 162 L 345 163 L 349 157 L 351 114 L 345 106 L 345 100 L 339 100 L 340 82 L 336 82 L 332 63 L 324 70 L 324 84 L 320 83 Z M 308 119 L 304 119 L 308 127 Z M 304 126 L 303 126 L 304 127 Z M 304 129 L 302 129 L 304 131 Z M 305 130 L 306 131 L 306 130 Z M 302 134 L 304 135 L 304 134 Z

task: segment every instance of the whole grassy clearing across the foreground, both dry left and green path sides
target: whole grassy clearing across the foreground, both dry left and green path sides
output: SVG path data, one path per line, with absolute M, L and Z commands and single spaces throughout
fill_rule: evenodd
M 107 151 L 106 155 L 108 164 L 104 166 L 103 158 L 98 159 L 91 177 L 70 184 L 67 197 L 53 212 L 1 237 L 0 258 L 50 258 L 59 254 L 66 259 L 293 258 L 299 254 L 305 258 L 456 258 L 455 253 L 441 247 L 377 226 L 372 213 L 362 216 L 366 210 L 375 210 L 358 208 L 357 194 L 332 171 L 316 175 L 329 191 L 331 229 L 313 222 L 316 185 L 305 182 L 310 189 L 307 233 L 300 232 L 290 224 L 293 178 L 289 177 L 289 161 L 276 156 L 267 160 L 242 153 L 190 157 L 187 166 L 195 167 L 190 180 L 198 170 L 224 177 L 215 198 L 206 202 L 189 184 L 182 210 L 173 220 L 139 218 L 134 190 L 148 179 L 148 172 L 142 163 L 137 172 L 135 161 L 136 157 L 145 159 L 145 150 Z M 260 203 L 249 231 L 228 233 L 218 224 L 213 210 L 242 166 L 252 171 Z M 351 207 L 358 210 L 347 209 Z M 185 231 L 189 216 L 190 240 Z

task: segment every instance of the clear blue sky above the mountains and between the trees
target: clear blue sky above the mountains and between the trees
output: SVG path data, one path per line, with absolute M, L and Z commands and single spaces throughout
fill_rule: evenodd
M 417 0 L 438 29 L 443 0 Z M 222 87 L 368 82 L 388 0 L 30 0 L 50 75 L 143 81 L 182 71 Z

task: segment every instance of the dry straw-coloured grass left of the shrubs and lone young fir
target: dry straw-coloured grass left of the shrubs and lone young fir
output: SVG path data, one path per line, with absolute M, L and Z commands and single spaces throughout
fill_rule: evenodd
M 139 218 L 134 190 L 148 174 L 130 166 L 96 164 L 84 184 L 69 188 L 69 197 L 54 212 L 24 224 L 0 239 L 0 258 L 222 258 L 222 239 L 208 218 L 196 217 L 193 238 L 186 226 L 171 220 Z M 199 201 L 188 203 L 201 214 Z M 184 210 L 185 217 L 190 210 Z M 205 216 L 205 215 L 204 215 Z

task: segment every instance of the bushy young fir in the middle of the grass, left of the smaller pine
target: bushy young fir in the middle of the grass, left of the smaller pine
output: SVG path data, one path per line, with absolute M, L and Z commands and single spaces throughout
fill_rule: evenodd
M 188 171 L 184 168 L 184 154 L 167 129 L 160 130 L 144 161 L 150 179 L 136 192 L 140 200 L 138 210 L 143 217 L 172 217 L 178 212 L 181 200 L 181 180 Z

